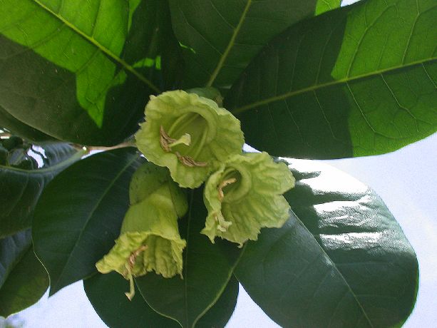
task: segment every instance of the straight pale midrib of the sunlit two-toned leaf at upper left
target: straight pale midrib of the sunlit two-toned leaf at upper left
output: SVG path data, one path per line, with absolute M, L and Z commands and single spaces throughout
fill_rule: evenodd
M 97 48 L 99 48 L 103 53 L 105 53 L 107 56 L 109 56 L 110 58 L 112 58 L 114 61 L 116 61 L 117 63 L 119 63 L 121 66 L 123 66 L 126 71 L 129 71 L 130 73 L 132 73 L 136 78 L 138 78 L 140 81 L 142 81 L 143 83 L 147 84 L 149 86 L 149 88 L 151 88 L 153 91 L 155 91 L 156 93 L 160 93 L 160 89 L 155 86 L 155 84 L 152 83 L 152 81 L 150 81 L 148 78 L 145 78 L 145 76 L 143 76 L 143 74 L 139 73 L 138 71 L 135 70 L 135 68 L 133 68 L 132 66 L 130 66 L 126 61 L 124 61 L 122 58 L 118 57 L 117 55 L 115 55 L 115 53 L 113 53 L 112 51 L 110 51 L 108 48 L 106 48 L 105 46 L 101 45 L 101 43 L 98 43 L 98 41 L 96 39 L 94 39 L 92 36 L 88 36 L 87 34 L 83 33 L 83 31 L 81 31 L 80 29 L 78 29 L 76 26 L 74 26 L 73 24 L 71 24 L 69 21 L 67 21 L 66 19 L 64 19 L 61 15 L 57 14 L 55 11 L 51 10 L 50 8 L 48 8 L 47 6 L 45 6 L 44 4 L 41 3 L 40 0 L 31 0 L 34 1 L 35 4 L 37 4 L 38 6 L 41 7 L 41 9 L 47 11 L 49 14 L 53 15 L 54 17 L 56 17 L 56 19 L 58 19 L 59 21 L 62 22 L 62 24 L 65 24 L 66 26 L 68 26 L 71 30 L 73 30 L 74 32 L 76 32 L 78 35 L 82 36 L 83 39 L 85 39 L 86 41 L 88 41 L 89 43 L 91 43 L 93 46 L 96 46 Z

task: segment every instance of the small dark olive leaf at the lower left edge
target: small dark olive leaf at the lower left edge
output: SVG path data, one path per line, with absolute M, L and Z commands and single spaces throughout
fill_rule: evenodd
M 30 307 L 47 288 L 48 275 L 32 249 L 30 230 L 0 240 L 0 316 Z

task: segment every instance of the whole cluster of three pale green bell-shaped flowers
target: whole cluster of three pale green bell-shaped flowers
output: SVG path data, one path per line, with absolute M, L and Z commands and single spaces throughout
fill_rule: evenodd
M 241 247 L 257 240 L 262 227 L 282 227 L 289 217 L 282 194 L 294 187 L 292 173 L 267 153 L 243 153 L 240 121 L 219 103 L 220 93 L 207 88 L 151 96 L 145 107 L 135 140 L 150 163 L 133 175 L 120 237 L 96 265 L 130 280 L 129 298 L 133 277 L 152 270 L 182 277 L 185 240 L 178 217 L 187 211 L 182 188 L 205 183 L 208 214 L 201 233 L 212 243 L 220 237 Z

